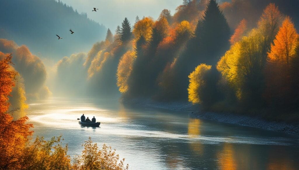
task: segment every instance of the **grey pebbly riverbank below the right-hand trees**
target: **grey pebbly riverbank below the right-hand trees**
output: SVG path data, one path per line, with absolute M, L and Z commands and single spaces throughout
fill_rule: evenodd
M 232 113 L 200 112 L 198 111 L 199 107 L 192 105 L 190 102 L 157 102 L 151 99 L 131 99 L 129 101 L 121 100 L 121 102 L 123 102 L 124 104 L 145 107 L 190 111 L 192 113 L 190 113 L 189 115 L 196 118 L 205 118 L 225 123 L 238 124 L 242 126 L 251 126 L 266 130 L 273 130 L 293 135 L 299 135 L 299 124 L 267 121 L 262 117 L 251 117 Z

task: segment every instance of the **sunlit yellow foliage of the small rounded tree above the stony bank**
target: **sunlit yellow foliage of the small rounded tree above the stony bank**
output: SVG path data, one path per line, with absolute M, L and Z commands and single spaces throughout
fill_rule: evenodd
M 193 104 L 201 103 L 199 97 L 200 88 L 205 85 L 204 76 L 212 68 L 211 65 L 200 64 L 195 70 L 188 76 L 189 88 L 188 88 L 188 101 Z

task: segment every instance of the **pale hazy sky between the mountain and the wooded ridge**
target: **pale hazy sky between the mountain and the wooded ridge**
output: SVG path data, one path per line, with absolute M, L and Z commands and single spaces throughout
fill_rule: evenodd
M 169 9 L 171 14 L 175 13 L 176 7 L 183 0 L 61 0 L 79 13 L 86 12 L 87 16 L 100 24 L 110 28 L 114 33 L 116 26 L 121 25 L 125 17 L 134 24 L 136 15 L 139 18 L 151 16 L 158 18 L 163 9 Z M 97 12 L 92 11 L 98 8 Z

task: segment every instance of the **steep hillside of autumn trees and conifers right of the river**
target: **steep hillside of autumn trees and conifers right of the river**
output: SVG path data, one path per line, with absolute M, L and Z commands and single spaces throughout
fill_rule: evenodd
M 157 20 L 136 17 L 131 24 L 125 18 L 114 37 L 109 30 L 80 60 L 80 75 L 88 77 L 86 94 L 114 96 L 118 89 L 124 100 L 189 100 L 203 110 L 246 108 L 254 114 L 296 112 L 298 13 L 286 10 L 290 4 L 184 0 L 173 15 L 164 9 Z M 292 46 L 282 47 L 289 36 Z M 287 56 L 286 67 L 276 62 L 280 56 Z M 75 58 L 61 60 L 59 69 L 77 68 L 69 61 Z

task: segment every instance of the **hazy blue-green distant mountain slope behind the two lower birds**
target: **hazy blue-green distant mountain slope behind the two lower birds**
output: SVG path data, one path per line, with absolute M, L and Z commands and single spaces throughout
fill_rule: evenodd
M 2 1 L 0 15 L 0 38 L 26 44 L 34 54 L 54 60 L 86 51 L 105 38 L 103 25 L 61 1 Z M 71 35 L 69 29 L 75 33 Z M 57 41 L 56 34 L 63 39 Z

